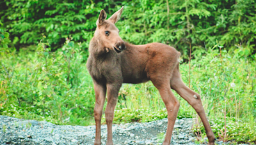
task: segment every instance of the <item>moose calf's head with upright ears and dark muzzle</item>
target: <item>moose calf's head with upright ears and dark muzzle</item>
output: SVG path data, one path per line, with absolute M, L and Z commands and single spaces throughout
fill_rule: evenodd
M 96 22 L 97 28 L 94 37 L 99 40 L 99 43 L 109 50 L 115 50 L 117 53 L 125 49 L 124 41 L 119 36 L 119 30 L 115 23 L 120 19 L 124 6 L 114 13 L 108 20 L 106 11 L 101 10 L 99 18 Z

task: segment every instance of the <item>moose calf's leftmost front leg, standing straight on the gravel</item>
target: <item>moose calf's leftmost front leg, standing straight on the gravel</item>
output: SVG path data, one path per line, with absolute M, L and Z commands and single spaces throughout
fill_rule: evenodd
M 100 85 L 94 82 L 94 91 L 95 91 L 95 107 L 94 107 L 94 119 L 96 124 L 96 134 L 94 145 L 100 145 L 100 123 L 102 116 L 102 109 L 104 106 L 106 98 L 106 85 Z

